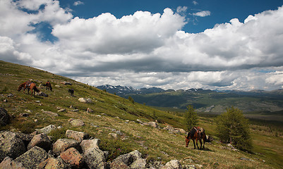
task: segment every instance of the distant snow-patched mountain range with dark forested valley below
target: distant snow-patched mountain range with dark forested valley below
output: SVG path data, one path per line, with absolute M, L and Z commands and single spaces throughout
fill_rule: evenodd
M 134 89 L 133 87 L 102 85 L 98 86 L 112 94 L 128 98 L 148 106 L 186 109 L 188 104 L 197 111 L 207 113 L 222 113 L 226 108 L 235 106 L 243 112 L 281 112 L 283 110 L 283 89 L 273 91 L 225 90 L 210 89 L 168 89 L 157 87 Z

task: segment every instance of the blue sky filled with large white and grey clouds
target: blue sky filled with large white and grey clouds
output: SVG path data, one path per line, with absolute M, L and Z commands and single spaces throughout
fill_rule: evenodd
M 282 89 L 282 0 L 0 0 L 0 59 L 93 86 Z

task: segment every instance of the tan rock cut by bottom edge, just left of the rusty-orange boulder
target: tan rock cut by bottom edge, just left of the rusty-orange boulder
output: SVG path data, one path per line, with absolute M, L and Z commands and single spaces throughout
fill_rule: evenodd
M 67 168 L 67 165 L 64 163 L 63 160 L 59 160 L 54 157 L 47 158 L 47 160 L 42 161 L 42 163 L 38 165 L 38 169 L 57 169 L 57 168 L 64 169 Z

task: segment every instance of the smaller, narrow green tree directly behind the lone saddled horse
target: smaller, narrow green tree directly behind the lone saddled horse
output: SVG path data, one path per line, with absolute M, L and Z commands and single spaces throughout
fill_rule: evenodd
M 184 114 L 183 125 L 185 125 L 186 130 L 190 131 L 192 127 L 198 125 L 198 115 L 192 105 L 187 106 L 188 111 Z

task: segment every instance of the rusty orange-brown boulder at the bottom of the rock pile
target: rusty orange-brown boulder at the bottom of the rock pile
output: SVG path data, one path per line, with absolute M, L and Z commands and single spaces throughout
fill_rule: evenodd
M 84 163 L 83 156 L 73 147 L 61 153 L 60 157 L 65 163 L 71 165 L 71 168 L 81 168 Z

